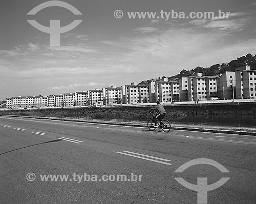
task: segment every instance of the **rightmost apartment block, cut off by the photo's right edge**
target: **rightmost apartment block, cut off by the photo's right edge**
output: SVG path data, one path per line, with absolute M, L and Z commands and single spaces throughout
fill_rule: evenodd
M 250 66 L 236 70 L 237 99 L 256 98 L 256 70 Z

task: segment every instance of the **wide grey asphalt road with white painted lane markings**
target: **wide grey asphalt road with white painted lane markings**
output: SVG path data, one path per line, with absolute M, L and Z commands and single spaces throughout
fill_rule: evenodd
M 256 136 L 0 117 L 0 203 L 255 203 L 255 158 Z

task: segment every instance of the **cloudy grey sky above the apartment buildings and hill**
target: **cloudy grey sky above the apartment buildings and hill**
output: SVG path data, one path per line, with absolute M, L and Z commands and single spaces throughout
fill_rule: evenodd
M 27 15 L 45 2 L 0 1 L 0 100 L 119 87 L 256 54 L 256 1 L 63 0 L 82 15 L 60 6 Z M 129 16 L 147 11 L 156 16 Z M 219 11 L 229 13 L 221 18 Z M 82 22 L 52 46 L 50 34 L 27 20 L 45 27 Z

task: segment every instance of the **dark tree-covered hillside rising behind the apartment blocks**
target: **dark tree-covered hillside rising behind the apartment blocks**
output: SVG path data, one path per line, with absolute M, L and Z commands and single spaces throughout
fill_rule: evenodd
M 183 69 L 179 74 L 175 76 L 167 77 L 168 80 L 179 80 L 181 77 L 187 77 L 189 75 L 195 74 L 195 73 L 202 73 L 203 76 L 216 76 L 219 74 L 223 74 L 226 71 L 234 71 L 236 69 L 239 69 L 241 67 L 250 66 L 251 69 L 256 69 L 256 55 L 252 56 L 250 53 L 246 56 L 238 57 L 237 59 L 231 60 L 229 63 L 222 63 L 212 65 L 210 67 L 196 67 L 191 70 Z M 163 76 L 162 78 L 164 78 Z M 150 84 L 153 80 L 160 80 L 161 78 L 155 78 L 155 79 L 148 79 L 141 81 L 139 84 Z

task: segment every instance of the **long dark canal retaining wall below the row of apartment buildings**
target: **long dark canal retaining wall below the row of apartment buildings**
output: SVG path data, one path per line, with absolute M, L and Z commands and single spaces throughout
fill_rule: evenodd
M 130 110 L 130 111 L 148 111 L 153 106 L 110 106 L 110 107 L 81 107 L 81 108 L 54 108 L 54 109 L 33 109 L 33 110 L 5 110 L 0 111 L 1 115 L 8 115 L 12 112 L 38 112 L 38 113 L 69 113 L 70 116 L 78 116 L 81 112 L 97 110 Z M 164 105 L 166 111 L 181 111 L 187 114 L 255 114 L 256 102 L 244 103 L 209 103 L 209 104 L 172 104 Z

